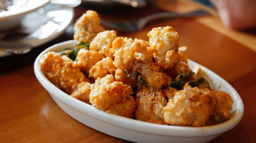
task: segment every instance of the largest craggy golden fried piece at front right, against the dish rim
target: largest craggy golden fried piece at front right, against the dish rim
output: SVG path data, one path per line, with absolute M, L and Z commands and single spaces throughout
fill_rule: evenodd
M 177 126 L 203 126 L 215 106 L 213 91 L 192 88 L 185 84 L 163 108 L 164 120 Z

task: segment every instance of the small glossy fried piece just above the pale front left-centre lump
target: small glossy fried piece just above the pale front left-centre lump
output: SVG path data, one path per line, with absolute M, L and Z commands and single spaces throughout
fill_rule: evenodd
M 101 61 L 98 61 L 89 71 L 89 76 L 94 79 L 102 78 L 107 74 L 115 73 L 117 68 L 113 64 L 111 57 L 103 58 Z

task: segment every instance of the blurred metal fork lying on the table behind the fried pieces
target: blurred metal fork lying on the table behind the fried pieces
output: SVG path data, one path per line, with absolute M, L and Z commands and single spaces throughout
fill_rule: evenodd
M 111 22 L 111 21 L 101 19 L 100 24 L 112 30 L 117 30 L 122 32 L 136 32 L 143 29 L 148 22 L 156 19 L 196 17 L 196 16 L 202 16 L 202 15 L 209 15 L 209 12 L 205 10 L 198 10 L 198 11 L 192 11 L 192 12 L 186 12 L 186 13 L 160 12 L 160 13 L 151 14 L 145 17 L 141 17 L 137 20 L 132 20 L 124 23 Z

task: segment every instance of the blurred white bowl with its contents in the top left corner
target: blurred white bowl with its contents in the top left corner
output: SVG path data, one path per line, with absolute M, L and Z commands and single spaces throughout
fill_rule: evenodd
M 19 2 L 22 1 L 1 0 L 0 31 L 10 30 L 11 28 L 18 26 L 26 14 L 43 7 L 50 0 L 26 0 L 22 4 L 19 4 Z M 10 6 L 4 7 L 8 5 L 8 2 L 11 3 Z

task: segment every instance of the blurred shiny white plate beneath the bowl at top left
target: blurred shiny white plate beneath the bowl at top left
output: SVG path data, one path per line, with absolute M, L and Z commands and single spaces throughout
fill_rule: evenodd
M 37 11 L 27 14 L 21 21 L 23 31 L 35 29 L 29 35 L 21 35 L 11 38 L 11 42 L 27 42 L 34 47 L 41 46 L 63 34 L 66 28 L 74 20 L 73 8 L 61 8 L 56 5 L 47 4 Z M 40 26 L 41 25 L 41 26 Z M 34 26 L 38 26 L 34 27 Z M 11 53 L 0 50 L 0 57 L 11 55 Z

